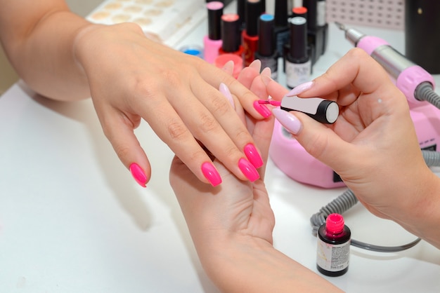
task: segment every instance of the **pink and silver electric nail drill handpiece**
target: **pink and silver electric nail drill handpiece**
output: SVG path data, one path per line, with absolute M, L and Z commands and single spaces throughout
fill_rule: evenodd
M 408 60 L 383 39 L 367 36 L 357 29 L 348 29 L 339 22 L 335 25 L 345 32 L 348 41 L 365 50 L 384 67 L 410 104 L 427 101 L 440 108 L 440 97 L 434 92 L 434 78 L 425 69 Z

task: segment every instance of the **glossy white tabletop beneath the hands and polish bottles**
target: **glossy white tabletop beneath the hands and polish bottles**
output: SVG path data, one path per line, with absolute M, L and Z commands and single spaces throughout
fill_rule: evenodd
M 205 25 L 181 45 L 201 44 Z M 362 29 L 403 51 L 403 32 Z M 314 75 L 349 48 L 330 25 Z M 22 82 L 0 97 L 0 292 L 217 292 L 169 186 L 172 152 L 146 123 L 136 134 L 153 168 L 146 189 L 119 162 L 91 100 L 46 100 Z M 266 184 L 275 246 L 316 271 L 309 218 L 345 189 L 299 184 L 271 161 Z M 399 245 L 415 238 L 359 204 L 344 217 L 358 240 Z M 328 280 L 347 292 L 440 292 L 439 276 L 440 251 L 422 241 L 397 253 L 351 247 L 348 273 Z

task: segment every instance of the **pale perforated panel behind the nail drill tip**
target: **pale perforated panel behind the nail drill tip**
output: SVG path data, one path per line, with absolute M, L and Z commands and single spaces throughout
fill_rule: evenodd
M 327 0 L 327 21 L 403 30 L 405 28 L 405 1 Z

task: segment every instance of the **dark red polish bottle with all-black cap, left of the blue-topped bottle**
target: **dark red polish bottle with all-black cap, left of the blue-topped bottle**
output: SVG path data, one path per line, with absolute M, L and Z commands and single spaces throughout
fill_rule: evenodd
M 245 29 L 242 31 L 243 63 L 245 67 L 249 66 L 255 59 L 259 37 L 259 15 L 261 15 L 261 1 L 247 0 L 245 6 Z

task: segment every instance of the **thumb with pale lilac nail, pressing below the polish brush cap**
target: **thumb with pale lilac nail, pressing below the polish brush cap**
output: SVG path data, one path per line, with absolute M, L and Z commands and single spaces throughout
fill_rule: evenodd
M 273 116 L 295 136 L 295 139 L 314 158 L 325 163 L 335 172 L 350 168 L 351 144 L 345 142 L 331 128 L 296 111 L 273 109 Z

